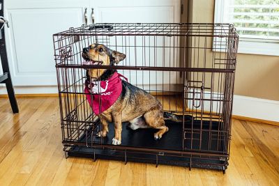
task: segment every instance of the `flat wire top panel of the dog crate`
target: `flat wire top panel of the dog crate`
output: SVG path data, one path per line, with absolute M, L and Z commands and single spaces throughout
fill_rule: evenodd
M 233 24 L 220 23 L 96 23 L 70 28 L 55 36 L 197 36 L 238 37 Z

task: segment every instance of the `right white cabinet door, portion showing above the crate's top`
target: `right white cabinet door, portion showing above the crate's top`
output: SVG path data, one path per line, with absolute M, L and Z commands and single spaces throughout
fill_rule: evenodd
M 92 0 L 96 22 L 180 22 L 181 0 Z M 117 2 L 117 3 L 116 3 Z

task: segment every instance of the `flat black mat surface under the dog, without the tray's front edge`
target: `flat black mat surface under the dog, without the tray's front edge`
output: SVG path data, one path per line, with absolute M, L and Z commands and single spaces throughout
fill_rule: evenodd
M 160 140 L 153 138 L 154 133 L 158 131 L 156 129 L 131 130 L 128 123 L 123 123 L 121 146 L 183 150 L 182 140 L 186 137 L 184 139 L 185 150 L 211 150 L 211 153 L 226 151 L 224 140 L 227 133 L 224 134 L 221 130 L 223 123 L 194 120 L 192 125 L 190 120 L 186 121 L 184 131 L 182 122 L 166 121 L 165 125 L 169 127 L 169 131 Z M 113 123 L 110 123 L 109 131 L 107 137 L 103 137 L 103 144 L 112 144 L 114 138 Z M 100 137 L 91 137 L 90 130 L 87 135 L 80 138 L 80 142 L 87 142 L 87 144 L 91 144 L 92 141 L 96 144 L 101 143 Z

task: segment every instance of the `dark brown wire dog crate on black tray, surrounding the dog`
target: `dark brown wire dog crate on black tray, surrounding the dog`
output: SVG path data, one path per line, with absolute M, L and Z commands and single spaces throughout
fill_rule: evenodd
M 232 24 L 106 23 L 54 34 L 66 157 L 173 164 L 225 172 L 238 40 Z M 126 54 L 126 58 L 117 65 L 96 63 L 84 67 L 82 51 L 92 44 L 105 45 Z M 113 123 L 107 137 L 98 137 L 102 121 L 86 97 L 93 93 L 84 93 L 86 81 L 91 82 L 87 70 L 112 69 L 130 84 L 155 96 L 165 113 L 179 118 L 165 121 L 169 131 L 162 139 L 153 139 L 155 129 L 130 130 L 128 123 L 122 123 L 121 145 L 112 145 Z

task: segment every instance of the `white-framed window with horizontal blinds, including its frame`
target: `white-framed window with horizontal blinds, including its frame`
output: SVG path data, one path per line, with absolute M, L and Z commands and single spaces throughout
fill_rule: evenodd
M 232 23 L 239 53 L 279 56 L 279 0 L 216 0 L 216 23 Z

